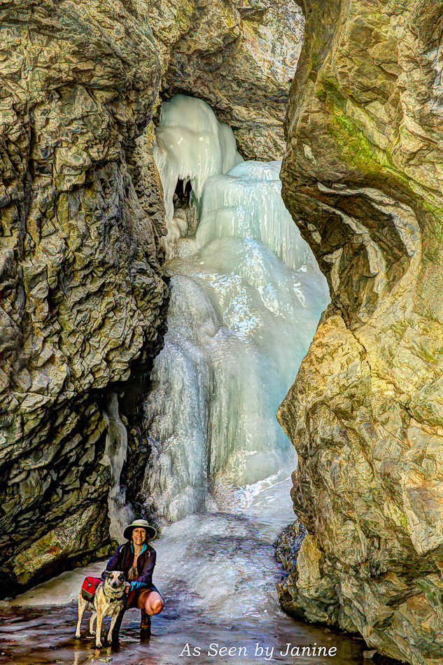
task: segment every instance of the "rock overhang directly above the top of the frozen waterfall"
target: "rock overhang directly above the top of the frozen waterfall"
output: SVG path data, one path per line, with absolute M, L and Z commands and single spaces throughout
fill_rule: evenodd
M 281 159 L 304 25 L 295 1 L 151 0 L 150 25 L 162 97 L 204 99 L 232 127 L 245 159 Z

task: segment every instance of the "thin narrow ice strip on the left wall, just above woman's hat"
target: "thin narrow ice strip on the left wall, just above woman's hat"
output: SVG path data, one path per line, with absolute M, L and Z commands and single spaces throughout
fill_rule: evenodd
M 118 398 L 111 393 L 106 407 L 108 423 L 106 447 L 102 464 L 111 468 L 111 488 L 108 494 L 108 514 L 111 524 L 109 535 L 118 542 L 125 542 L 123 529 L 134 519 L 132 507 L 125 503 L 125 491 L 120 488 L 120 475 L 127 454 L 127 431 L 118 414 Z

